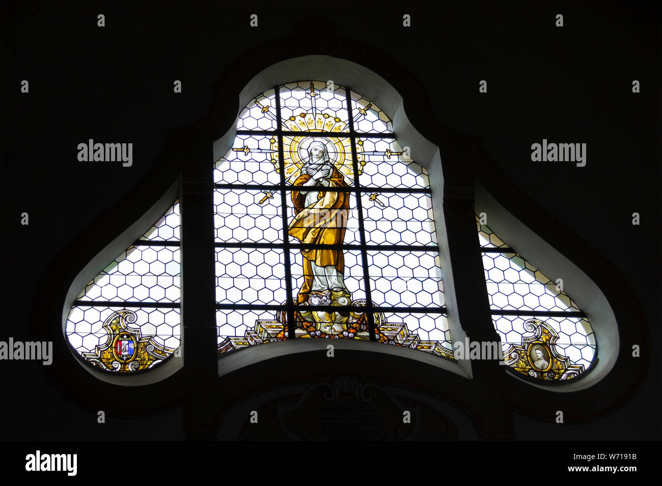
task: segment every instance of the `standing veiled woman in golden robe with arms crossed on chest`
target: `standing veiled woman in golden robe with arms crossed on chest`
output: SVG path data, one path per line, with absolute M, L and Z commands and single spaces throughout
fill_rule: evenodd
M 348 184 L 330 162 L 324 143 L 315 141 L 308 145 L 308 159 L 294 185 L 301 189 L 292 191 L 295 217 L 288 233 L 303 245 L 310 245 L 301 249 L 304 279 L 298 302 L 312 305 L 349 303 L 350 292 L 343 279 L 342 249 L 313 247 L 342 245 L 350 209 L 349 193 L 332 190 Z

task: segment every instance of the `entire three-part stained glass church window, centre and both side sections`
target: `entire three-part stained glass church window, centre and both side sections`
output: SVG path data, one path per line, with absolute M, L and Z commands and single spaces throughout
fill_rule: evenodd
M 213 167 L 219 354 L 326 338 L 453 359 L 432 191 L 409 155 L 387 114 L 346 87 L 252 99 Z M 140 372 L 179 347 L 179 219 L 175 201 L 73 302 L 65 333 L 87 364 Z M 594 333 L 563 283 L 478 217 L 477 231 L 506 364 L 540 380 L 591 369 Z

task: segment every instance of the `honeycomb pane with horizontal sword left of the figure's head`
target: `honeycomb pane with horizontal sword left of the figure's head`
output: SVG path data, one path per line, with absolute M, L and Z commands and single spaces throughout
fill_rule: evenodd
M 278 137 L 237 135 L 214 164 L 216 184 L 279 184 Z

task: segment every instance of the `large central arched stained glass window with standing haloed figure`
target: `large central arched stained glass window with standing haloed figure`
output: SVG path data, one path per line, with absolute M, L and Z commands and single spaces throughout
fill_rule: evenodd
M 428 175 L 379 106 L 273 87 L 214 182 L 218 352 L 317 337 L 453 358 Z

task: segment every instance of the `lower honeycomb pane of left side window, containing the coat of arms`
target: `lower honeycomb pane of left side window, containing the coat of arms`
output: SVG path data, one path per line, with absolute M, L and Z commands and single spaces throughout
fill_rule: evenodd
M 179 346 L 179 309 L 76 305 L 65 333 L 85 362 L 111 372 L 153 368 Z

